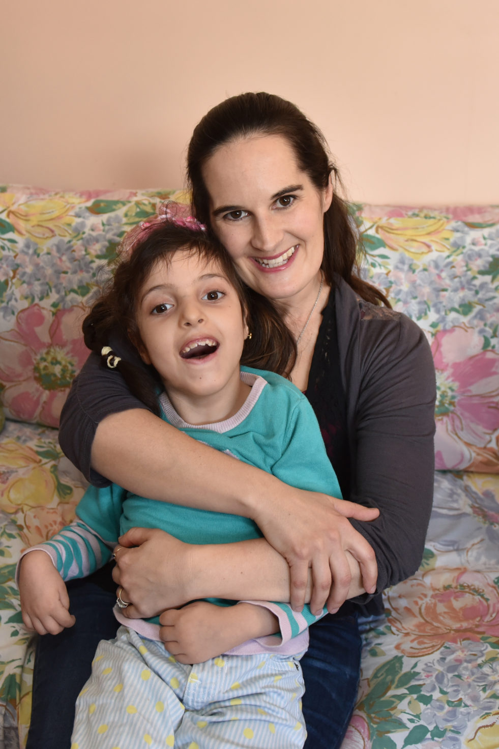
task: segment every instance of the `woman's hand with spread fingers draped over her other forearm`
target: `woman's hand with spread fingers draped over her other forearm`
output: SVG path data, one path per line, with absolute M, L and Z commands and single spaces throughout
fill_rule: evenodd
M 319 613 L 326 602 L 327 609 L 334 613 L 351 597 L 351 568 L 355 562 L 360 567 L 363 589 L 375 592 L 378 577 L 375 553 L 348 518 L 372 521 L 379 510 L 326 494 L 286 489 L 284 501 L 276 498 L 272 504 L 264 503 L 253 519 L 270 545 L 288 562 L 291 607 L 297 611 L 303 608 L 309 568 L 312 568 L 310 607 L 314 613 Z

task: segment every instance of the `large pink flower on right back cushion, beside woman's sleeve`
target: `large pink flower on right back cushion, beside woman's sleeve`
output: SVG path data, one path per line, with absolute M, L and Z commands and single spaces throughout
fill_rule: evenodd
M 499 470 L 499 354 L 466 326 L 437 333 L 432 354 L 437 375 L 436 467 Z

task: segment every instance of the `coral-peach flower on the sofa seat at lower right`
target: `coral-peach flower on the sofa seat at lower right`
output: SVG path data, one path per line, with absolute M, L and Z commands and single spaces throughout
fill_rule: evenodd
M 411 658 L 446 643 L 499 635 L 499 592 L 485 574 L 466 568 L 418 572 L 387 592 L 396 649 Z

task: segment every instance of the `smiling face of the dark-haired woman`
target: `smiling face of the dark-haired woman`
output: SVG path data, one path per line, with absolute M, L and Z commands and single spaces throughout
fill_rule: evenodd
M 202 173 L 211 225 L 241 278 L 283 303 L 315 296 L 332 186 L 318 190 L 287 139 L 274 135 L 220 146 Z

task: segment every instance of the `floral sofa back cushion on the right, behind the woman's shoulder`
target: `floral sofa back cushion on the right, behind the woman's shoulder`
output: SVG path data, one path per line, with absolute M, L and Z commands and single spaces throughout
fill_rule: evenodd
M 365 275 L 432 345 L 435 458 L 499 472 L 499 207 L 359 205 Z

